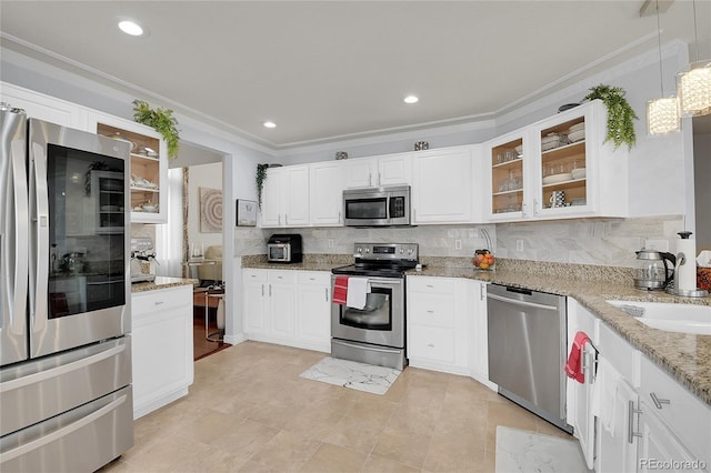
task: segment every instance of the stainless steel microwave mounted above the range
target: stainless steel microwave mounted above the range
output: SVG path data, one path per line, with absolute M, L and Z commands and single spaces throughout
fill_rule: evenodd
M 346 227 L 410 224 L 410 187 L 348 189 L 343 191 Z

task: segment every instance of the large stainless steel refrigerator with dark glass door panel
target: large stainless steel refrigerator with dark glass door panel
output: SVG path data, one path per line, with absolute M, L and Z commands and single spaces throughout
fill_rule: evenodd
M 0 471 L 133 444 L 129 153 L 0 104 Z

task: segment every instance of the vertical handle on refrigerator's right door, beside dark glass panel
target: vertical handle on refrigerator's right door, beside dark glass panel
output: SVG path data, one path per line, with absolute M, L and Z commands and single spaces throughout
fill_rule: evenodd
M 41 332 L 48 320 L 49 283 L 49 195 L 47 191 L 47 154 L 40 143 L 30 142 L 30 163 L 33 171 L 30 184 L 33 229 L 33 252 L 30 252 L 30 316 L 32 331 Z

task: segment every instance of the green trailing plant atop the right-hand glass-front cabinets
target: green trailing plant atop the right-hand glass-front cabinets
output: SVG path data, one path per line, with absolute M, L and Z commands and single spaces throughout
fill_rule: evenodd
M 637 142 L 633 120 L 638 120 L 637 113 L 624 98 L 624 89 L 621 87 L 597 85 L 590 89 L 585 100 L 600 99 L 608 108 L 608 134 L 605 141 L 612 141 L 618 149 L 622 143 L 631 149 Z

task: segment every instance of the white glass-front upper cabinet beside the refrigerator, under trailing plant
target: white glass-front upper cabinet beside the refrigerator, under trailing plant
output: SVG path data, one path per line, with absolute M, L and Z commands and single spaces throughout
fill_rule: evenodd
M 98 134 L 131 143 L 130 212 L 132 223 L 168 221 L 168 152 L 154 130 L 140 123 L 108 115 L 93 117 Z M 103 212 L 111 212 L 111 204 Z M 101 210 L 100 210 L 101 211 Z M 102 214 L 109 217 L 109 214 Z M 106 220 L 106 219 L 104 219 Z

